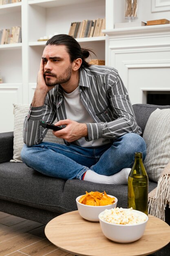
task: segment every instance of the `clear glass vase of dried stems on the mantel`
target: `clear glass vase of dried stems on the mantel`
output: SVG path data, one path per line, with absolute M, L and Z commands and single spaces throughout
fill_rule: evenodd
M 126 0 L 125 3 L 125 18 L 132 22 L 137 18 L 138 0 Z

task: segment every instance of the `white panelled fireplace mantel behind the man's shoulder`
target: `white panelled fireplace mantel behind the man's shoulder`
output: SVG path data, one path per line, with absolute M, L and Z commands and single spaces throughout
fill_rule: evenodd
M 170 24 L 104 30 L 106 65 L 115 67 L 132 104 L 146 91 L 170 91 Z

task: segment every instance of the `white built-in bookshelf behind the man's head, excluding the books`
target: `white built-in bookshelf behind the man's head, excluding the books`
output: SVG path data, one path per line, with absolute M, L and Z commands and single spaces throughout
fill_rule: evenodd
M 8 112 L 13 113 L 13 103 L 31 103 L 32 85 L 35 87 L 46 44 L 38 41 L 40 37 L 68 34 L 71 22 L 85 19 L 106 18 L 108 24 L 112 6 L 112 0 L 22 0 L 0 5 L 0 29 L 22 27 L 22 43 L 0 45 L 0 108 L 8 104 Z M 93 49 L 97 58 L 105 59 L 105 36 L 76 40 L 81 47 Z M 96 56 L 92 54 L 91 58 Z M 0 132 L 12 130 L 13 120 L 8 130 L 0 128 Z

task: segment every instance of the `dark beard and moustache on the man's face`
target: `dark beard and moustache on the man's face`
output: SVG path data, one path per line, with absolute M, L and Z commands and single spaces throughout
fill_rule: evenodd
M 51 77 L 46 77 L 45 76 L 46 73 L 51 74 Z M 44 72 L 46 85 L 47 86 L 54 86 L 54 85 L 57 85 L 57 84 L 66 83 L 70 80 L 71 73 L 72 73 L 72 65 L 68 66 L 66 68 L 66 70 L 64 70 L 64 72 L 59 76 L 57 76 L 56 74 L 53 74 L 50 71 L 46 70 Z M 55 81 L 51 81 L 51 78 L 53 78 L 53 77 L 56 78 Z

